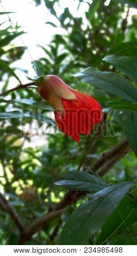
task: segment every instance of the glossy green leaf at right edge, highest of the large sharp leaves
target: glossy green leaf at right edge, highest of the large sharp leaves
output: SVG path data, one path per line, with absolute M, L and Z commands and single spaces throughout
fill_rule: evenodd
M 130 77 L 137 83 L 137 60 L 128 56 L 116 56 L 114 54 L 107 55 L 103 58 L 105 62 L 108 62 L 120 70 L 124 75 Z

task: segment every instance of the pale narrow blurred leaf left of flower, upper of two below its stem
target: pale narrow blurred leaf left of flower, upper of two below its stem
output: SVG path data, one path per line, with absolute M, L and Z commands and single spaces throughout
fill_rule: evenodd
M 32 88 L 32 87 L 31 87 Z M 27 105 L 27 106 L 31 106 L 31 107 L 34 107 L 34 108 L 40 108 L 40 109 L 44 109 L 46 111 L 53 111 L 53 108 L 51 106 L 48 106 L 48 105 L 41 105 L 38 101 L 35 101 L 35 100 L 30 100 L 30 99 L 20 99 L 20 100 L 4 100 L 4 99 L 0 99 L 0 102 L 4 102 L 4 103 L 7 103 L 7 104 L 14 104 L 15 103 L 18 103 L 21 105 Z

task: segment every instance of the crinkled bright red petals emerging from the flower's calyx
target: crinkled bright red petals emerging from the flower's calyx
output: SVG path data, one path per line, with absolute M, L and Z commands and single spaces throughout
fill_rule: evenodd
M 99 103 L 88 94 L 73 91 L 76 101 L 62 99 L 65 116 L 54 112 L 56 124 L 59 129 L 75 141 L 79 142 L 79 135 L 89 135 L 94 124 L 102 119 L 102 111 Z

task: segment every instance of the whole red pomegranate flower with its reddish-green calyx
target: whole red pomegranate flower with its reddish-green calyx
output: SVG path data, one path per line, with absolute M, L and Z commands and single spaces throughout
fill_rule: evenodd
M 99 103 L 90 95 L 67 86 L 58 76 L 48 75 L 39 83 L 41 97 L 55 109 L 55 123 L 74 141 L 89 135 L 102 119 Z

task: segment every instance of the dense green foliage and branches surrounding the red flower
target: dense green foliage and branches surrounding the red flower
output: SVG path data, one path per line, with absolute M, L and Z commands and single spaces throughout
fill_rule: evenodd
M 36 77 L 28 78 L 28 86 L 22 86 L 16 69 L 11 69 L 26 51 L 12 40 L 24 32 L 12 23 L 0 31 L 3 245 L 137 242 L 136 4 L 77 2 L 77 10 L 87 7 L 82 17 L 74 17 L 67 7 L 58 16 L 60 2 L 45 0 L 57 20 L 46 22 L 47 28 L 59 23 L 65 32 L 48 46 L 39 46 L 43 57 L 33 61 Z M 103 120 L 80 143 L 58 130 L 52 107 L 38 94 L 38 83 L 48 74 L 90 94 L 102 106 Z M 20 89 L 7 92 L 13 76 Z

